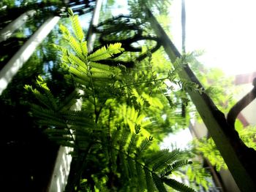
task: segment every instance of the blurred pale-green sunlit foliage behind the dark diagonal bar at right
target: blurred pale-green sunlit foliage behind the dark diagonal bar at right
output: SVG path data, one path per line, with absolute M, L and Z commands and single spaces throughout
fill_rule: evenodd
M 197 78 L 203 86 L 206 87 L 206 93 L 211 96 L 214 104 L 217 105 L 219 110 L 227 114 L 230 108 L 236 103 L 236 100 L 233 99 L 233 94 L 238 91 L 238 89 L 233 85 L 233 78 L 226 77 L 221 69 L 207 68 L 195 59 L 202 53 L 203 52 L 200 51 L 190 53 L 188 59 L 189 64 L 193 72 L 197 75 Z M 207 76 L 205 74 L 207 74 Z M 199 116 L 197 117 L 197 120 L 200 121 Z M 244 127 L 239 120 L 236 120 L 235 128 L 245 145 L 255 149 L 255 126 Z M 202 154 L 205 158 L 208 158 L 208 161 L 210 161 L 212 166 L 215 166 L 217 171 L 227 169 L 227 165 L 211 137 L 194 139 L 192 148 L 193 153 L 197 155 Z

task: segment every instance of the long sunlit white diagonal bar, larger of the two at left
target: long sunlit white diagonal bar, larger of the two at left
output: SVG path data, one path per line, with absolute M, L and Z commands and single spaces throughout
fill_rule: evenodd
M 8 83 L 12 80 L 12 77 L 18 72 L 30 56 L 34 53 L 37 46 L 47 37 L 50 31 L 56 26 L 59 21 L 59 17 L 52 17 L 45 21 L 42 26 L 29 38 L 25 44 L 20 47 L 15 55 L 12 56 L 10 61 L 0 71 L 0 95 L 7 88 Z

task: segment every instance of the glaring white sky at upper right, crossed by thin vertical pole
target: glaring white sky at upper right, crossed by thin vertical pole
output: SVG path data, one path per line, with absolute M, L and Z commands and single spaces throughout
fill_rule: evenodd
M 205 50 L 200 61 L 227 74 L 256 71 L 256 1 L 187 0 L 187 51 Z M 181 45 L 181 0 L 173 0 L 173 42 Z

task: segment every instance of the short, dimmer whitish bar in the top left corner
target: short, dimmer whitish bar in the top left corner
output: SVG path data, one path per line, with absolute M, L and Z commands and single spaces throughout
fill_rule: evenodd
M 12 36 L 12 34 L 17 31 L 20 27 L 22 27 L 29 18 L 32 18 L 36 13 L 35 10 L 30 10 L 28 12 L 24 12 L 20 17 L 13 20 L 9 23 L 5 28 L 0 30 L 0 42 L 8 39 Z

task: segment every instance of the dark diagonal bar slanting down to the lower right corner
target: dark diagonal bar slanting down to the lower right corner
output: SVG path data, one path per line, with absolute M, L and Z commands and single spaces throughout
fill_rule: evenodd
M 151 11 L 146 9 L 146 12 L 151 27 L 161 40 L 170 61 L 174 63 L 176 58 L 181 57 L 181 54 Z M 195 82 L 203 88 L 188 65 L 184 66 L 178 75 L 180 78 Z M 197 91 L 188 91 L 188 93 L 240 190 L 244 192 L 256 191 L 255 150 L 244 145 L 236 130 L 227 123 L 225 115 L 217 109 L 206 93 L 200 94 Z

